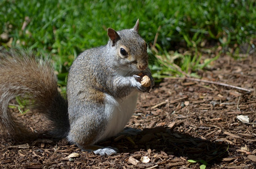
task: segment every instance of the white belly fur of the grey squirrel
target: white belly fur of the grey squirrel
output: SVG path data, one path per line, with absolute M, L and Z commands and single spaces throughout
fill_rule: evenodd
M 110 95 L 106 95 L 105 113 L 109 123 L 97 141 L 115 136 L 123 130 L 136 108 L 137 97 L 137 91 L 132 92 L 123 99 L 115 99 Z

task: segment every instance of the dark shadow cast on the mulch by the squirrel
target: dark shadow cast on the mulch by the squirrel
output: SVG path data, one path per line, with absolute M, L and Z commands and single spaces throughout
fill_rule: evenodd
M 189 134 L 174 132 L 170 127 L 144 128 L 99 143 L 102 146 L 112 146 L 119 153 L 136 153 L 141 150 L 154 154 L 173 155 L 185 159 L 203 160 L 209 164 L 218 163 L 227 157 L 229 148 L 222 140 L 212 143 L 210 140 L 193 137 Z

